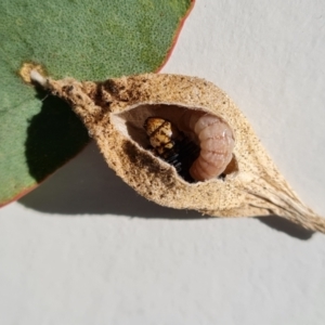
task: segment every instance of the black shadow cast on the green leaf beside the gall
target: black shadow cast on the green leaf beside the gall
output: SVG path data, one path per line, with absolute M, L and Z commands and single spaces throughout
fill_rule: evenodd
M 63 100 L 38 90 L 41 112 L 29 120 L 25 156 L 30 176 L 42 181 L 79 153 L 89 142 L 88 131 Z

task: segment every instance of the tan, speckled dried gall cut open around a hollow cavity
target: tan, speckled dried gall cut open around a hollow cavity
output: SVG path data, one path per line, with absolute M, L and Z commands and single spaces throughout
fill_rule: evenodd
M 218 217 L 277 214 L 325 233 L 325 219 L 301 203 L 244 115 L 211 82 L 195 77 L 148 74 L 103 82 L 48 79 L 47 87 L 70 103 L 108 166 L 147 199 Z M 150 150 L 143 126 L 150 117 L 159 117 L 174 123 L 195 142 L 198 133 L 193 132 L 190 120 L 194 116 L 197 121 L 198 115 L 225 123 L 227 138 L 234 140 L 234 145 L 222 177 L 191 183 L 172 164 Z M 202 145 L 199 141 L 198 144 Z

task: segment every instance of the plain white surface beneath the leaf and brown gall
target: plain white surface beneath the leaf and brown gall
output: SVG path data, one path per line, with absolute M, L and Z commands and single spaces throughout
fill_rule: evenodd
M 199 1 L 164 73 L 225 90 L 325 217 L 325 2 Z M 325 235 L 140 197 L 95 145 L 0 210 L 0 324 L 325 324 Z

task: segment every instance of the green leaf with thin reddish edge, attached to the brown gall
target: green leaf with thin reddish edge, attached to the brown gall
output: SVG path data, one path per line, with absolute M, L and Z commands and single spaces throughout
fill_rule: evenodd
M 30 191 L 89 140 L 66 103 L 23 82 L 23 63 L 80 80 L 157 70 L 193 2 L 0 2 L 0 206 Z

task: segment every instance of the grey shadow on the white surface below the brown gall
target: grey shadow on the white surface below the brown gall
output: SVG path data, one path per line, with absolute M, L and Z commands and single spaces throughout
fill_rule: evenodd
M 35 210 L 58 214 L 117 214 L 177 220 L 209 218 L 197 211 L 165 208 L 146 200 L 107 168 L 94 142 L 76 159 L 21 198 L 20 203 Z M 309 239 L 313 234 L 280 217 L 256 219 L 299 239 Z

